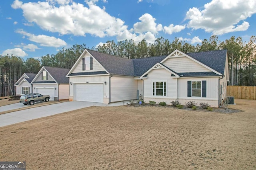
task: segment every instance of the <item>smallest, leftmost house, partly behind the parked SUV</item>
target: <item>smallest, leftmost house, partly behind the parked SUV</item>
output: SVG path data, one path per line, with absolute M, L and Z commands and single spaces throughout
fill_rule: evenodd
M 14 86 L 16 86 L 16 95 L 32 93 L 32 85 L 30 83 L 35 76 L 36 74 L 34 73 L 24 73 L 14 84 Z

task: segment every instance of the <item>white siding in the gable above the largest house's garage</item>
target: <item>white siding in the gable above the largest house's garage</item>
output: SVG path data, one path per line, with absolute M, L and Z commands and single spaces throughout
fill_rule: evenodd
M 92 60 L 92 70 L 83 70 L 82 68 L 82 58 L 84 57 L 90 57 L 88 53 L 86 53 L 83 57 L 80 58 L 80 61 L 76 65 L 76 68 L 72 71 L 72 73 L 76 72 L 94 72 L 94 71 L 104 71 L 104 68 L 93 58 Z

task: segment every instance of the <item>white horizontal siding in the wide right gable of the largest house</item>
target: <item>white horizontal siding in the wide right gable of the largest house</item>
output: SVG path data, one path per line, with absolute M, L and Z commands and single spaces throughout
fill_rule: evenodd
M 188 57 L 169 58 L 163 64 L 175 72 L 210 72 L 210 70 Z

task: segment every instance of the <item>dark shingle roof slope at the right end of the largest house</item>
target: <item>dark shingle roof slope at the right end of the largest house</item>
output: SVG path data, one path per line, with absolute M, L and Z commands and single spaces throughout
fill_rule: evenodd
M 224 74 L 226 64 L 227 50 L 204 51 L 198 53 L 187 53 L 190 57 L 196 59 L 200 63 Z

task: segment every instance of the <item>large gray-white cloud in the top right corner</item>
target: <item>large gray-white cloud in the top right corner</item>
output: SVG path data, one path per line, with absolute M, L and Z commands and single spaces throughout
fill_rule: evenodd
M 190 28 L 204 29 L 206 32 L 222 35 L 247 30 L 249 23 L 243 20 L 255 13 L 255 0 L 212 0 L 204 5 L 202 11 L 190 8 L 186 13 L 186 19 L 189 20 Z

